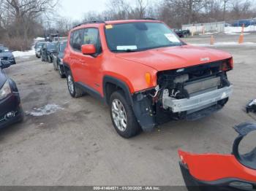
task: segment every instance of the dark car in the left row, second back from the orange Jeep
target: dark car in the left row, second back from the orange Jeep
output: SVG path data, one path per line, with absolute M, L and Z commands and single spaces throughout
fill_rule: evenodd
M 41 49 L 41 60 L 48 61 L 49 63 L 53 62 L 53 54 L 57 52 L 56 42 L 47 42 L 43 44 Z

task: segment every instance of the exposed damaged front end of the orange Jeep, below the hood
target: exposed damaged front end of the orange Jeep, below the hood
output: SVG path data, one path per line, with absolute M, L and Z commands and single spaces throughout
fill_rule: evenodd
M 222 109 L 233 92 L 227 71 L 232 58 L 184 69 L 159 71 L 157 87 L 133 95 L 143 130 L 169 120 L 198 120 Z

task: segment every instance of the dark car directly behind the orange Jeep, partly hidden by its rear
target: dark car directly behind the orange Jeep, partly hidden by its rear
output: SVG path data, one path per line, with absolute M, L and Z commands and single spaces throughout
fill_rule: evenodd
M 67 47 L 67 41 L 62 41 L 57 44 L 57 53 L 53 54 L 53 67 L 55 70 L 59 70 L 61 78 L 65 77 L 65 71 L 63 66 L 64 50 Z

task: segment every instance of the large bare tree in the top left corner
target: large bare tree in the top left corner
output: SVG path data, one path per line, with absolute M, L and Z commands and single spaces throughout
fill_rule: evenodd
M 1 17 L 8 21 L 5 26 L 8 36 L 20 37 L 29 43 L 37 19 L 51 13 L 57 3 L 57 0 L 1 0 Z

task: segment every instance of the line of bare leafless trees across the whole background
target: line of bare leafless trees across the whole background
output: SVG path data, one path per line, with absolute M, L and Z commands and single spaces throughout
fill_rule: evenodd
M 47 31 L 67 35 L 70 28 L 89 20 L 150 17 L 162 20 L 172 28 L 181 28 L 187 23 L 256 17 L 254 0 L 108 0 L 104 11 L 85 12 L 81 20 L 56 15 L 54 10 L 58 3 L 61 1 L 0 0 L 0 44 L 4 41 L 23 50 L 35 36 L 42 36 Z

